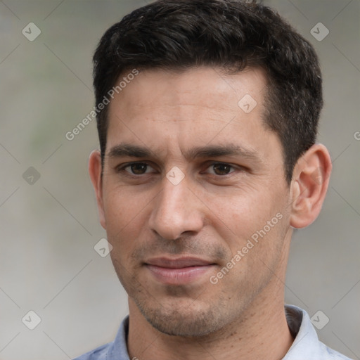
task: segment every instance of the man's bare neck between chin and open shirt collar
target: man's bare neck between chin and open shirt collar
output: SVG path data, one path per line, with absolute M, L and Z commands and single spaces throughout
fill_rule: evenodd
M 277 289 L 283 284 L 277 283 Z M 281 286 L 282 285 L 282 286 Z M 281 290 L 283 293 L 283 290 Z M 245 311 L 216 333 L 204 337 L 171 336 L 153 328 L 129 299 L 128 351 L 139 360 L 283 359 L 293 343 L 285 318 L 283 297 L 265 290 Z M 275 296 L 275 298 L 274 298 Z

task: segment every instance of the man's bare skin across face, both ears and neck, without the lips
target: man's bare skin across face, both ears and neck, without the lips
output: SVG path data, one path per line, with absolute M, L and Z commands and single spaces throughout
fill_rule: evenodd
M 98 150 L 89 173 L 129 295 L 130 359 L 275 360 L 293 343 L 283 309 L 290 239 L 293 228 L 318 216 L 331 162 L 316 144 L 286 183 L 281 143 L 262 119 L 264 91 L 261 69 L 146 70 L 111 101 L 103 176 Z M 238 106 L 245 94 L 257 102 L 250 113 Z M 126 155 L 124 144 L 150 154 Z M 191 156 L 209 146 L 243 152 Z M 176 185 L 166 176 L 173 167 L 184 174 Z M 276 214 L 276 225 L 211 283 Z M 213 265 L 193 281 L 170 284 L 146 266 L 153 257 L 184 255 Z

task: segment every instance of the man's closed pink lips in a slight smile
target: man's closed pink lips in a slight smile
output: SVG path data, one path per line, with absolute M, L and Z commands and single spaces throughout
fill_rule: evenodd
M 144 266 L 156 281 L 166 285 L 182 285 L 205 278 L 205 274 L 216 264 L 197 257 L 157 257 L 148 259 Z

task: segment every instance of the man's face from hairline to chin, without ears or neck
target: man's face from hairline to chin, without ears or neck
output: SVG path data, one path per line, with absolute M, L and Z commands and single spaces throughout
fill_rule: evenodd
M 101 223 L 130 305 L 163 333 L 219 330 L 281 288 L 289 188 L 265 86 L 259 69 L 147 70 L 109 105 Z

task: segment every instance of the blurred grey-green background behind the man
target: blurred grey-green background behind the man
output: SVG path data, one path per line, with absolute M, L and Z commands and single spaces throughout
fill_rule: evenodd
M 110 257 L 94 250 L 105 238 L 87 174 L 96 124 L 65 134 L 93 109 L 101 35 L 147 2 L 0 1 L 0 359 L 71 359 L 113 340 L 127 314 Z M 321 310 L 321 340 L 360 359 L 360 3 L 264 3 L 319 53 L 319 141 L 334 165 L 319 219 L 293 237 L 285 302 Z

